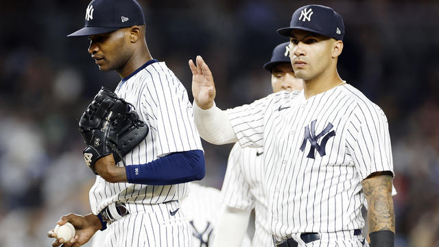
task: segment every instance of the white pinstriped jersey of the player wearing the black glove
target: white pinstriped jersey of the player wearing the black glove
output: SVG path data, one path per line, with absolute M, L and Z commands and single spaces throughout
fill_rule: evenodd
M 131 103 L 150 128 L 145 141 L 124 157 L 126 165 L 148 163 L 171 152 L 202 150 L 187 91 L 165 62 L 139 68 L 119 82 L 115 93 Z M 97 214 L 112 202 L 157 204 L 178 200 L 186 194 L 187 184 L 107 183 L 97 176 L 89 197 L 91 209 Z

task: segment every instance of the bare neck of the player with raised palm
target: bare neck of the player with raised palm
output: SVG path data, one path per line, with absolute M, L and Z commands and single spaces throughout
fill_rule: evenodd
M 305 99 L 309 99 L 319 93 L 324 93 L 343 83 L 344 81 L 340 78 L 340 75 L 338 75 L 337 70 L 333 71 L 333 73 L 321 73 L 311 80 L 304 80 L 303 91 L 305 93 Z

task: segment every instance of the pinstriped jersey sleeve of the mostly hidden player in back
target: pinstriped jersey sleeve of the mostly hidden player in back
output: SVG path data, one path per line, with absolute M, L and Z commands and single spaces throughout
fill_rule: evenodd
M 254 197 L 242 171 L 242 148 L 238 143 L 233 146 L 228 156 L 221 199 L 228 207 L 244 210 L 254 208 Z

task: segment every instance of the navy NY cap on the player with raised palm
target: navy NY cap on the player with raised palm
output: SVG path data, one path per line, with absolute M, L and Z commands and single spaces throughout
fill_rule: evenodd
M 289 37 L 292 30 L 305 30 L 343 40 L 344 23 L 342 16 L 332 8 L 323 5 L 306 5 L 294 12 L 289 27 L 281 28 L 277 32 Z

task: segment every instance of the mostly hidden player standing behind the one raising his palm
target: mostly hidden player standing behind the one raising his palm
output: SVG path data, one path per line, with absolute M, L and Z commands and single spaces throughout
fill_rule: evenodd
M 281 90 L 302 90 L 302 80 L 296 78 L 289 60 L 289 42 L 277 45 L 270 62 L 263 68 L 272 74 L 274 93 Z M 226 204 L 216 231 L 215 246 L 241 246 L 250 211 L 255 211 L 255 232 L 252 246 L 272 245 L 268 227 L 268 202 L 264 196 L 265 168 L 263 148 L 241 148 L 236 143 L 227 163 L 222 186 L 222 201 Z

